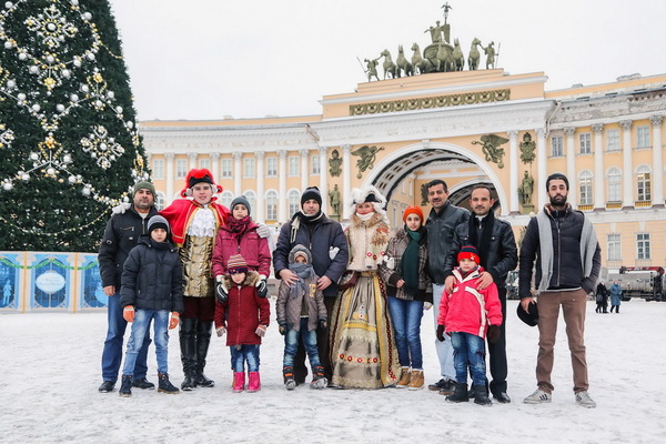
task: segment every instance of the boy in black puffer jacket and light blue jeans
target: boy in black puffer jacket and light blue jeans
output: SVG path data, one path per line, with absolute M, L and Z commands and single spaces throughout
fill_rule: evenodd
M 182 269 L 178 249 L 170 241 L 169 223 L 161 215 L 148 222 L 149 238 L 141 238 L 130 251 L 122 272 L 120 304 L 123 317 L 132 323 L 122 370 L 121 396 L 132 395 L 132 376 L 143 337 L 154 320 L 159 392 L 178 393 L 169 382 L 169 330 L 175 329 L 183 312 Z M 171 315 L 171 319 L 170 319 Z

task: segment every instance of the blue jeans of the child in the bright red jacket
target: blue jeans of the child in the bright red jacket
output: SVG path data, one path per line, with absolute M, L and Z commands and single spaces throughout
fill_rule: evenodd
M 452 332 L 455 382 L 467 383 L 467 364 L 472 373 L 472 383 L 485 387 L 485 341 L 470 333 Z

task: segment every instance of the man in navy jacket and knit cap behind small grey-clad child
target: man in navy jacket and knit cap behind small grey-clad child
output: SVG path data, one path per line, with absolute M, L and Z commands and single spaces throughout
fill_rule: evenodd
M 297 282 L 297 276 L 289 270 L 289 252 L 296 245 L 305 245 L 312 253 L 312 266 L 317 276 L 317 289 L 324 293 L 324 305 L 327 319 L 335 296 L 337 296 L 337 280 L 344 273 L 349 260 L 349 248 L 342 225 L 322 212 L 322 194 L 316 186 L 309 186 L 301 195 L 301 211 L 296 212 L 290 222 L 282 225 L 278 246 L 273 252 L 273 269 L 275 278 L 287 284 Z M 324 376 L 331 381 L 331 359 L 329 352 L 329 329 L 317 331 L 317 347 Z M 305 367 L 305 349 L 299 343 L 294 359 L 294 379 L 296 384 L 303 384 L 307 376 Z

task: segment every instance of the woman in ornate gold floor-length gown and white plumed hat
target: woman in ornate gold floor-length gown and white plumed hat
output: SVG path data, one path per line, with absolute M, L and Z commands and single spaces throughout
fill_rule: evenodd
M 355 283 L 337 296 L 331 319 L 333 385 L 381 389 L 401 375 L 386 289 L 377 266 L 389 243 L 384 196 L 374 188 L 352 190 L 354 214 L 345 235 L 350 246 L 347 273 Z

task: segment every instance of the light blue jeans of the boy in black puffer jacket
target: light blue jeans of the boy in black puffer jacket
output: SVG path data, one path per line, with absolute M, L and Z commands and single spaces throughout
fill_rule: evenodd
M 171 313 L 168 310 L 137 310 L 134 322 L 132 322 L 132 333 L 128 341 L 128 351 L 125 352 L 125 365 L 122 369 L 123 375 L 134 375 L 134 366 L 143 339 L 149 332 L 150 321 L 153 321 L 155 332 L 155 354 L 158 355 L 158 373 L 168 374 L 168 354 L 169 354 L 169 317 Z

